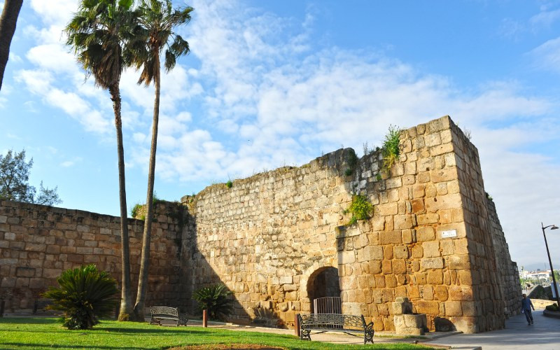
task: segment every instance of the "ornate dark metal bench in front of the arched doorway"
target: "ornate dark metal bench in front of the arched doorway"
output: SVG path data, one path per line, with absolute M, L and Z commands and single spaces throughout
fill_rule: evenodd
M 352 333 L 363 332 L 363 343 L 373 344 L 373 322 L 365 323 L 365 318 L 353 315 L 341 314 L 297 314 L 297 321 L 300 323 L 300 339 L 311 340 L 311 330 L 323 332 L 344 332 L 349 335 Z M 357 337 L 357 335 L 354 335 Z

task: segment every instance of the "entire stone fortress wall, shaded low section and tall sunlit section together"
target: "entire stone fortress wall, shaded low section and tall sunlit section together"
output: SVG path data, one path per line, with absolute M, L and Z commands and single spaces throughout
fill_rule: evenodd
M 430 330 L 484 332 L 517 313 L 521 290 L 477 149 L 449 117 L 401 134 L 386 172 L 379 151 L 341 149 L 302 167 L 209 186 L 158 207 L 147 305 L 195 312 L 193 290 L 223 282 L 232 321 L 292 327 L 316 297 L 394 330 L 391 302 L 408 297 Z M 351 171 L 351 175 L 346 176 Z M 346 225 L 353 194 L 374 214 Z M 62 269 L 94 262 L 120 278 L 119 218 L 0 203 L 0 297 L 29 309 Z M 142 221 L 131 220 L 137 276 Z

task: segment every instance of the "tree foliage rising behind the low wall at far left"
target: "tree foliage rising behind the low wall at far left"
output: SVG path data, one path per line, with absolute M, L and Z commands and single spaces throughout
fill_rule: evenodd
M 25 150 L 19 153 L 9 150 L 6 155 L 0 154 L 0 199 L 43 205 L 62 203 L 57 187 L 45 188 L 41 181 L 37 193 L 35 186 L 29 185 L 31 167 L 33 158 L 26 162 Z

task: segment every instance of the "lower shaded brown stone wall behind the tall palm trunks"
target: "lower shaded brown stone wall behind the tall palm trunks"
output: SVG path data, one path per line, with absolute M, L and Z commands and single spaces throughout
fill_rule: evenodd
M 159 204 L 152 229 L 146 306 L 183 306 L 179 220 Z M 133 293 L 139 273 L 144 221 L 128 221 Z M 30 312 L 65 269 L 94 264 L 121 279 L 120 218 L 36 204 L 0 202 L 0 300 L 5 312 Z

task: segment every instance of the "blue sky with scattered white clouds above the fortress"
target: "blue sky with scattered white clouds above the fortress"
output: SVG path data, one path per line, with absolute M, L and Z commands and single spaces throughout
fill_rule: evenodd
M 361 153 L 390 124 L 450 115 L 479 149 L 512 258 L 545 268 L 540 222 L 560 225 L 559 1 L 188 5 L 193 20 L 179 31 L 191 53 L 162 79 L 158 197 L 341 145 Z M 118 215 L 109 95 L 64 47 L 76 8 L 25 1 L 0 92 L 0 151 L 25 148 L 31 183 L 58 186 L 62 207 Z M 131 70 L 121 82 L 129 207 L 146 197 L 153 104 L 137 78 Z M 560 267 L 560 251 L 552 258 Z

